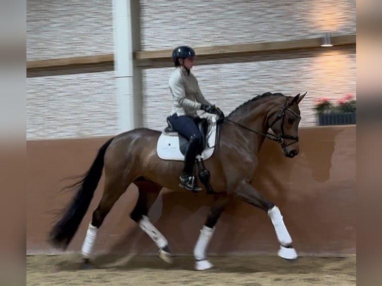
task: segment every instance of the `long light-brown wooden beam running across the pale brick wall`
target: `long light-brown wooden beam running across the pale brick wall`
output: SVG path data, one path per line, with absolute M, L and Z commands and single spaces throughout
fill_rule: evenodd
M 198 57 L 208 59 L 218 55 L 221 56 L 247 56 L 256 53 L 275 52 L 275 51 L 291 51 L 298 49 L 316 49 L 322 43 L 321 38 L 299 39 L 278 42 L 262 42 L 248 44 L 233 44 L 212 47 L 195 47 Z M 354 45 L 356 44 L 356 34 L 333 36 L 332 43 L 334 46 Z M 171 59 L 172 49 L 158 51 L 137 51 L 134 53 L 134 59 L 138 62 L 169 60 Z M 70 58 L 58 58 L 49 60 L 32 60 L 26 62 L 26 69 L 43 69 L 43 68 L 67 68 L 75 66 L 84 66 L 92 64 L 103 64 L 114 61 L 113 54 L 80 56 Z

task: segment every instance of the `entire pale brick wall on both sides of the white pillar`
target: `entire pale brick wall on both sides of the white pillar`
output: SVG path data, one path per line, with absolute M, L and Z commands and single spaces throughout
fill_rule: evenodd
M 141 0 L 142 49 L 178 44 L 279 41 L 356 32 L 355 0 Z M 112 2 L 27 2 L 27 60 L 113 53 Z M 144 123 L 163 128 L 171 109 L 172 68 L 144 70 Z M 356 94 L 355 48 L 288 56 L 251 57 L 244 63 L 195 66 L 205 96 L 225 113 L 266 92 L 308 91 L 302 126 L 315 125 L 314 98 Z M 27 139 L 107 136 L 117 131 L 113 72 L 27 79 Z

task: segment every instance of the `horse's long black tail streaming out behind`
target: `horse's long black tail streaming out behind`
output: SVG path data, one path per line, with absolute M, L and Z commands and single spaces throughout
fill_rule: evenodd
M 67 206 L 62 218 L 50 231 L 50 243 L 53 246 L 66 249 L 76 233 L 87 209 L 89 208 L 98 182 L 101 179 L 104 166 L 104 155 L 107 147 L 113 139 L 114 138 L 109 139 L 102 145 L 89 170 L 84 175 L 80 176 L 81 179 L 69 186 L 69 188 L 75 186 L 79 186 L 79 188 L 76 195 Z

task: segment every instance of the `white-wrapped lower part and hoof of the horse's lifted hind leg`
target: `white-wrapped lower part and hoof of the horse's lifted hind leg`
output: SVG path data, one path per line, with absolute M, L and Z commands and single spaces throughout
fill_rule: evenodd
M 169 250 L 169 243 L 165 236 L 151 223 L 147 216 L 139 221 L 139 227 L 146 232 L 159 247 L 159 256 L 167 263 L 173 263 Z

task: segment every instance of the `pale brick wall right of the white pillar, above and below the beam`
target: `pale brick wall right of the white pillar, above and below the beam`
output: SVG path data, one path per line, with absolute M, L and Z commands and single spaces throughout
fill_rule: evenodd
M 141 0 L 142 49 L 179 44 L 214 46 L 282 41 L 356 33 L 355 0 Z M 308 91 L 301 126 L 316 125 L 317 97 L 356 95 L 356 50 L 322 49 L 248 58 L 245 63 L 195 66 L 205 96 L 228 114 L 251 97 L 271 91 L 296 95 Z M 281 57 L 282 58 L 282 57 Z M 172 68 L 145 70 L 145 125 L 163 128 L 171 110 L 168 78 Z M 162 120 L 162 122 L 161 122 Z

